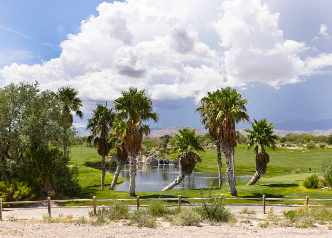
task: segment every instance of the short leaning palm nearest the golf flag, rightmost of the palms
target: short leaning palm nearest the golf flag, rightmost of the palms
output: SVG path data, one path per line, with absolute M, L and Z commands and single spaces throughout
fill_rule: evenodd
M 256 161 L 256 173 L 247 185 L 255 184 L 261 178 L 261 175 L 266 173 L 266 165 L 270 162 L 270 156 L 266 153 L 265 148 L 276 150 L 276 141 L 278 140 L 278 137 L 273 135 L 273 123 L 268 123 L 266 118 L 259 121 L 254 119 L 254 122 L 251 122 L 252 129 L 244 129 L 244 131 L 249 133 L 247 150 L 252 149 L 255 152 Z

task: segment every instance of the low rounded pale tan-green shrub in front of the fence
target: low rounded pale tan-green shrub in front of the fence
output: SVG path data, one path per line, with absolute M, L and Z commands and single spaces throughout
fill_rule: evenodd
M 200 214 L 191 208 L 184 208 L 176 214 L 171 221 L 173 226 L 199 226 L 201 221 Z

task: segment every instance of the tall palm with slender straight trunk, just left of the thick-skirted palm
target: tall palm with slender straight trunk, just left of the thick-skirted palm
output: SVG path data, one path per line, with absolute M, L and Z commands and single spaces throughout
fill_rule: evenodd
M 219 95 L 219 94 L 218 94 Z M 217 163 L 218 163 L 218 178 L 219 178 L 219 187 L 222 186 L 222 173 L 221 173 L 221 152 L 220 152 L 220 131 L 221 119 L 216 120 L 215 107 L 217 106 L 218 101 L 216 98 L 215 92 L 207 92 L 207 96 L 202 98 L 200 101 L 200 107 L 196 109 L 196 112 L 201 115 L 201 123 L 205 125 L 205 128 L 208 129 L 209 134 L 217 143 Z

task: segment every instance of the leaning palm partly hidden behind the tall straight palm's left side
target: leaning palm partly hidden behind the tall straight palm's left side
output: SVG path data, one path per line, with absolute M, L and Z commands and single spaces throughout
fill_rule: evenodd
M 121 139 L 119 139 L 119 136 L 118 136 L 117 132 L 113 131 L 113 133 L 108 135 L 107 139 L 111 144 L 113 144 L 114 149 L 115 149 L 116 154 L 117 154 L 117 168 L 115 170 L 111 186 L 108 189 L 108 190 L 114 190 L 115 185 L 117 184 L 118 177 L 120 175 L 122 166 L 127 162 L 128 153 L 125 150 L 124 142 Z

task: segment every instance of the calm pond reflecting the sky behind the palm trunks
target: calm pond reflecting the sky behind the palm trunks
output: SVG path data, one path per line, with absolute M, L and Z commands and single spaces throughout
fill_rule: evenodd
M 107 172 L 115 173 L 116 167 L 107 168 Z M 177 178 L 181 167 L 179 165 L 137 165 L 136 175 L 136 191 L 160 191 Z M 253 173 L 238 173 L 237 180 L 252 177 Z M 123 166 L 121 177 L 124 182 L 118 184 L 115 190 L 128 191 L 129 188 L 129 164 Z M 226 175 L 222 175 L 223 186 L 227 185 Z M 208 187 L 210 180 L 213 180 L 213 186 L 218 186 L 218 171 L 197 169 L 185 179 L 177 187 L 173 189 L 194 189 Z M 249 179 L 248 179 L 249 180 Z

